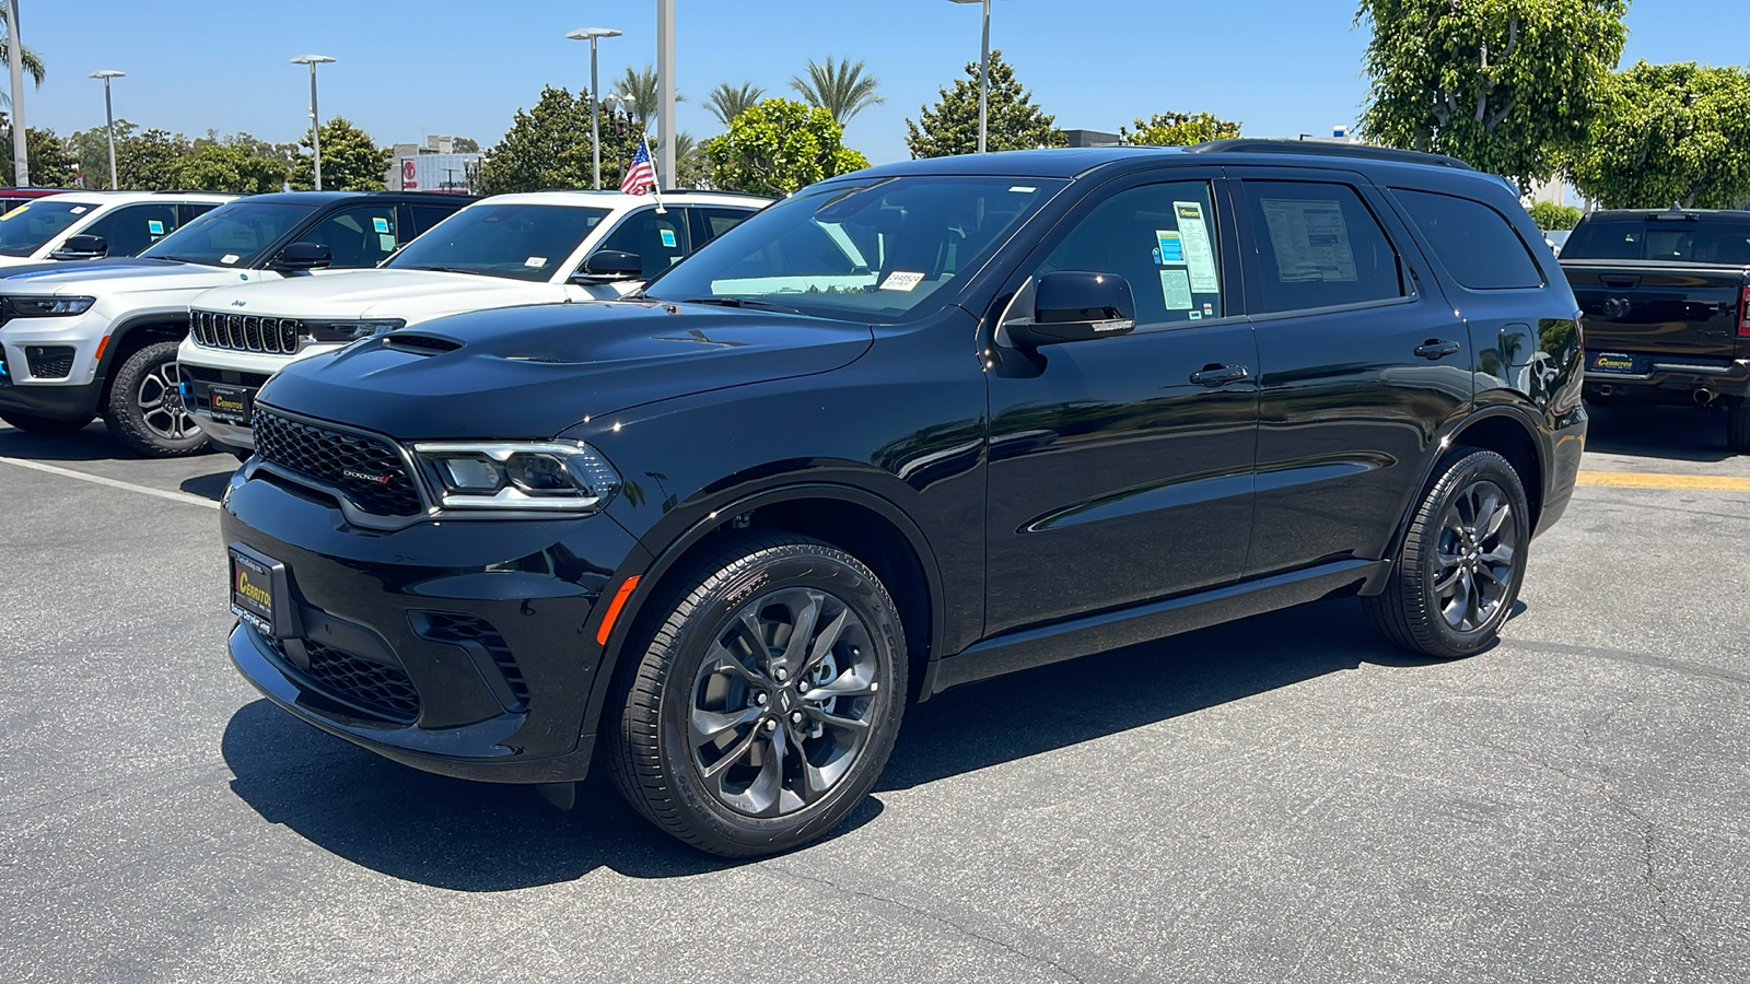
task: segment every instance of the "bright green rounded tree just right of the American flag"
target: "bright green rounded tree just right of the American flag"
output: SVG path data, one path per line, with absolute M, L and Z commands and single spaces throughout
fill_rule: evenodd
M 866 168 L 868 158 L 845 147 L 844 135 L 845 128 L 824 109 L 784 98 L 765 100 L 737 116 L 728 133 L 705 140 L 710 184 L 779 198 Z

